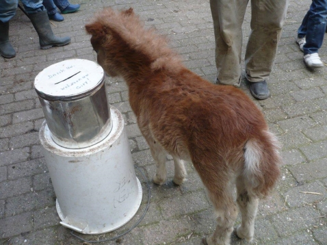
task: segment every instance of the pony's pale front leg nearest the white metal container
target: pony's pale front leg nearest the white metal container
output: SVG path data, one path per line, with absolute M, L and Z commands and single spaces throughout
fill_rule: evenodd
M 151 155 L 155 160 L 155 164 L 157 167 L 155 175 L 153 176 L 153 183 L 156 183 L 157 185 L 162 185 L 167 179 L 167 153 L 164 147 L 162 147 L 158 142 L 155 142 L 155 140 L 148 140 L 148 144 L 150 146 Z

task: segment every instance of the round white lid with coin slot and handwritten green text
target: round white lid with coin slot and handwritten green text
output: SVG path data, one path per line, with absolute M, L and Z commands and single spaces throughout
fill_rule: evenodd
M 104 75 L 103 68 L 90 60 L 64 60 L 42 70 L 36 76 L 34 86 L 44 99 L 68 101 L 97 90 Z

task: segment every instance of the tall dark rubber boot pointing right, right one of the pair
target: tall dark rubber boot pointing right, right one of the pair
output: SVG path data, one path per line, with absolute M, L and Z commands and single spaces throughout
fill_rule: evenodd
M 64 46 L 70 42 L 70 37 L 58 38 L 53 34 L 47 11 L 29 14 L 31 23 L 34 25 L 40 40 L 41 49 L 49 49 L 54 46 Z

